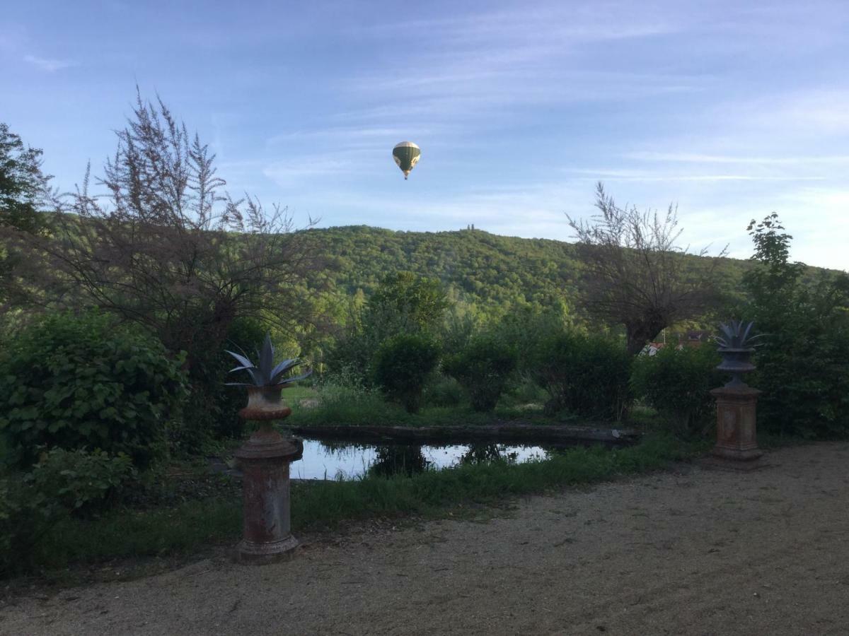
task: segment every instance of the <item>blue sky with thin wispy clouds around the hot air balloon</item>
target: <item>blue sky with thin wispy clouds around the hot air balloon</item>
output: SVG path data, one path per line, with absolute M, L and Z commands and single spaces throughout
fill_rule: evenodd
M 845 0 L 14 3 L 0 121 L 70 189 L 138 83 L 301 225 L 569 240 L 601 180 L 677 202 L 694 248 L 745 258 L 774 210 L 794 258 L 849 269 L 847 34 Z

